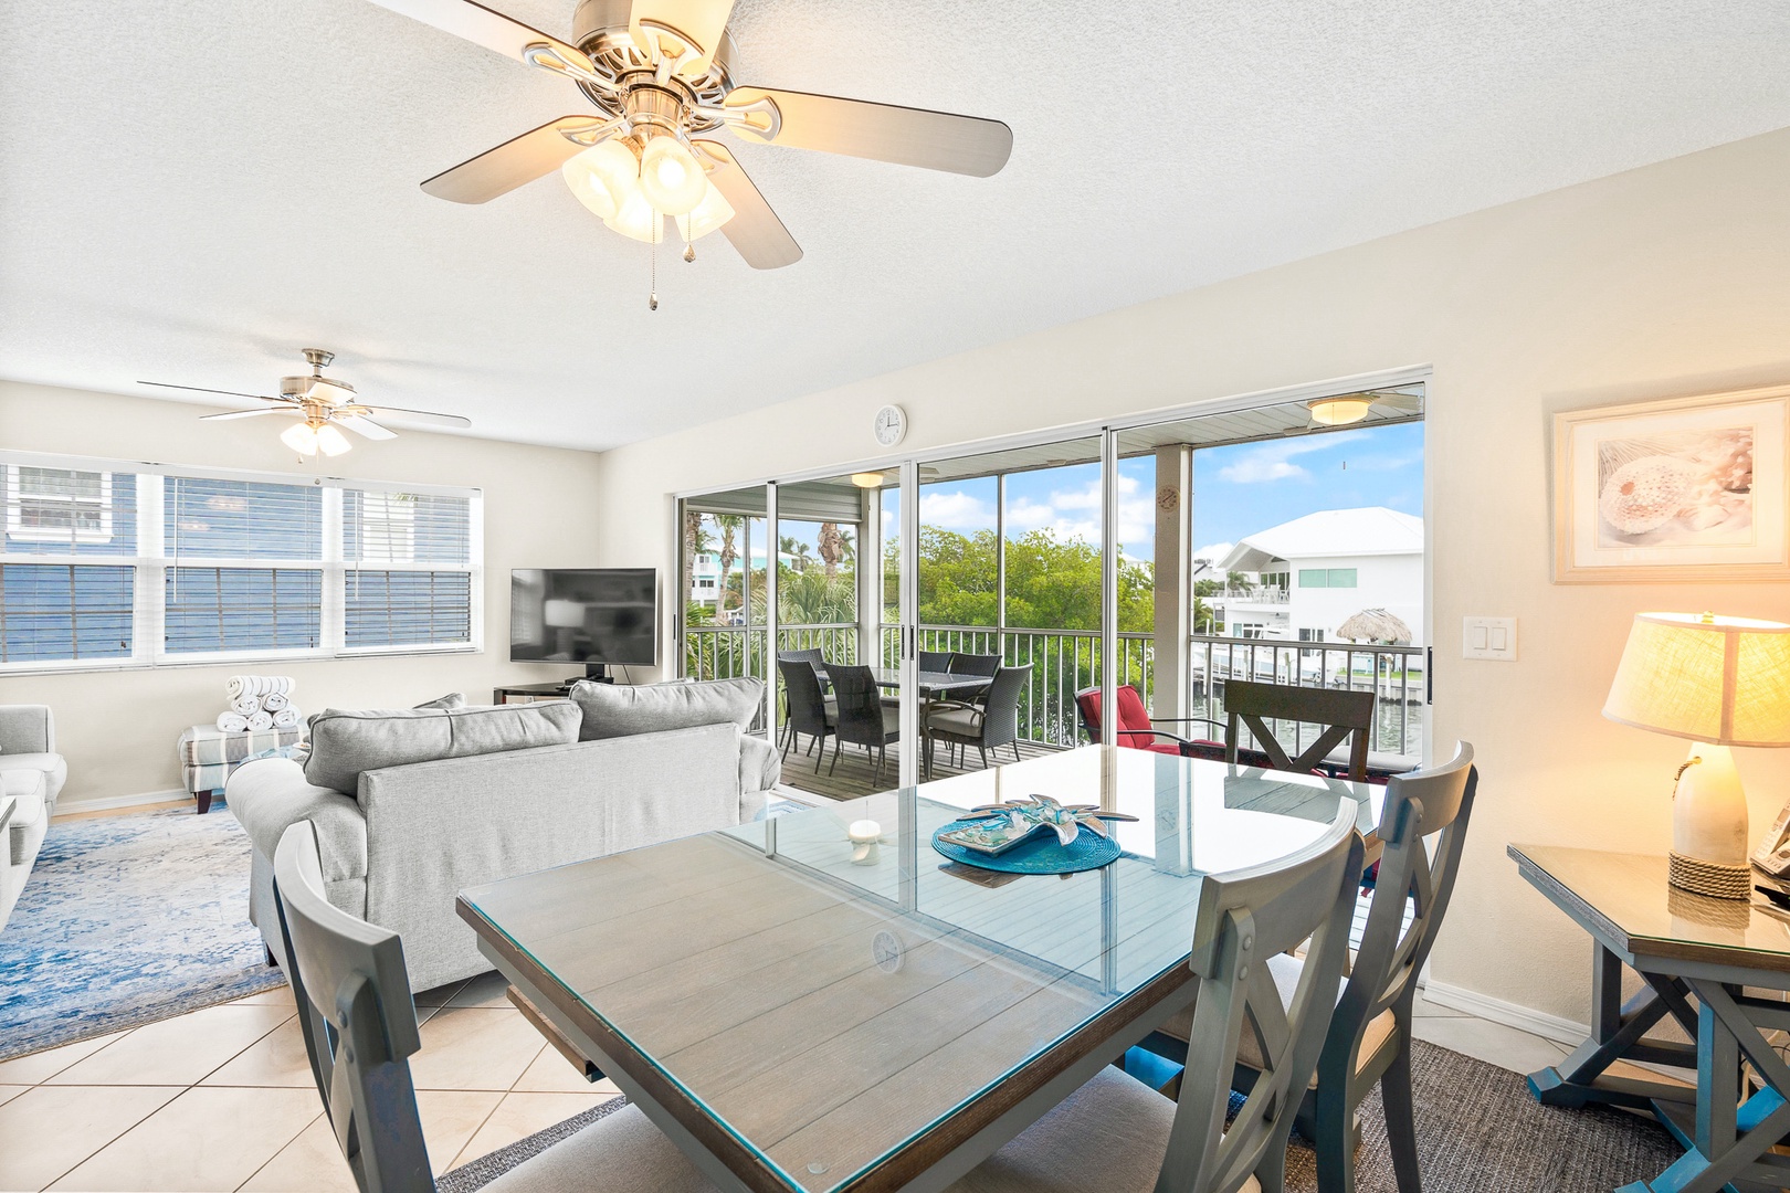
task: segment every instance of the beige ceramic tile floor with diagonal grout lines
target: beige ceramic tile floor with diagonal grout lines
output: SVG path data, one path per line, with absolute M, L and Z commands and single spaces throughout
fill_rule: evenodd
M 616 1096 L 503 998 L 417 994 L 410 1061 L 435 1172 Z M 1527 1073 L 1566 1048 L 1419 1000 L 1418 1037 Z M 353 1191 L 285 989 L 0 1062 L 0 1189 Z

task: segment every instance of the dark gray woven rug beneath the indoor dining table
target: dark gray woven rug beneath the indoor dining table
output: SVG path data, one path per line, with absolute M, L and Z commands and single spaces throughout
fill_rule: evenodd
M 1516 1073 L 1418 1041 L 1411 1053 L 1418 1114 L 1418 1164 L 1425 1193 L 1609 1193 L 1658 1177 L 1679 1157 L 1672 1136 L 1652 1120 L 1588 1107 L 1563 1111 L 1529 1096 Z M 507 1148 L 464 1164 L 435 1182 L 440 1193 L 474 1193 L 530 1155 L 626 1105 L 614 1098 Z M 1378 1091 L 1360 1105 L 1362 1146 L 1355 1154 L 1357 1193 L 1398 1193 L 1385 1150 Z M 1294 1136 L 1287 1191 L 1316 1193 L 1317 1155 Z

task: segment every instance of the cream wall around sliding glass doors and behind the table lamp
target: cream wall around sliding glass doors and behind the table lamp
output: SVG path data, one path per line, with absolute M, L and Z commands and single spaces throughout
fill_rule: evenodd
M 1598 715 L 1629 619 L 1785 617 L 1790 585 L 1552 585 L 1548 415 L 1790 381 L 1786 211 L 1774 132 L 623 447 L 601 563 L 671 569 L 675 490 L 879 458 L 888 401 L 936 447 L 1430 363 L 1436 742 L 1471 740 L 1484 774 L 1434 977 L 1582 1020 L 1586 939 L 1505 844 L 1663 851 L 1683 742 Z M 1520 662 L 1461 660 L 1466 613 L 1516 615 Z M 1758 832 L 1790 751 L 1742 753 Z

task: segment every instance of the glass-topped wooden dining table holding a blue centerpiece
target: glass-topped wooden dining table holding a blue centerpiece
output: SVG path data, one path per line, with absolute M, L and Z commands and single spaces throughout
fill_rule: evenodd
M 943 1189 L 1192 1005 L 1206 875 L 1298 857 L 1384 787 L 1087 746 L 464 891 L 510 1000 L 712 1180 Z M 1070 875 L 933 833 L 1051 796 L 1135 816 Z M 1088 830 L 1083 830 L 1088 832 Z

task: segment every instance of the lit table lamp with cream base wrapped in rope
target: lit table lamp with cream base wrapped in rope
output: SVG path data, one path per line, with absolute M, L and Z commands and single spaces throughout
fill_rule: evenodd
M 1672 803 L 1672 885 L 1749 898 L 1747 798 L 1729 746 L 1790 746 L 1790 626 L 1636 613 L 1604 715 L 1692 740 Z

